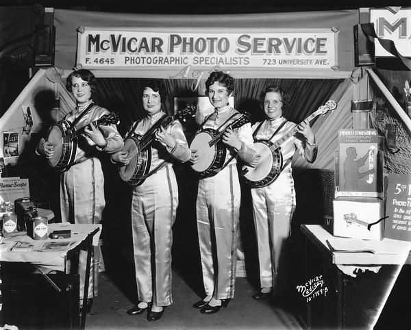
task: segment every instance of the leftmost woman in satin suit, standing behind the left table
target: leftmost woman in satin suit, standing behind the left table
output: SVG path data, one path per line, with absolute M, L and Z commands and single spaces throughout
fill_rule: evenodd
M 96 88 L 95 75 L 88 70 L 73 71 L 66 79 L 66 90 L 73 94 L 76 107 L 64 116 L 64 120 L 75 123 L 75 128 L 86 127 L 78 136 L 73 163 L 60 176 L 60 209 L 62 222 L 79 224 L 100 223 L 105 207 L 104 175 L 98 153 L 114 153 L 123 148 L 123 139 L 116 125 L 95 126 L 93 121 L 110 114 L 108 110 L 92 101 Z M 29 110 L 27 110 L 29 111 Z M 54 142 L 55 143 L 55 142 Z M 51 159 L 55 153 L 53 142 L 42 138 L 36 153 Z M 90 311 L 92 297 L 98 293 L 99 248 L 92 250 L 88 300 L 83 306 L 84 280 L 87 253 L 80 251 L 80 308 Z

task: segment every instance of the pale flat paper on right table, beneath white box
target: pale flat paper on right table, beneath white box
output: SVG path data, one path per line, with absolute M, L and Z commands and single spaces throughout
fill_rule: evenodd
M 357 240 L 355 238 L 336 238 L 326 240 L 329 249 L 333 252 L 368 252 L 374 254 L 401 255 L 409 253 L 411 242 L 384 239 Z

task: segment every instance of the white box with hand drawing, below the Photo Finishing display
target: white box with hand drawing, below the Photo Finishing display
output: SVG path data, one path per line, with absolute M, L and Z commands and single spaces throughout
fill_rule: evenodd
M 384 201 L 378 198 L 334 199 L 333 235 L 364 240 L 384 237 Z M 371 225 L 375 223 L 375 225 Z M 369 228 L 370 227 L 370 228 Z

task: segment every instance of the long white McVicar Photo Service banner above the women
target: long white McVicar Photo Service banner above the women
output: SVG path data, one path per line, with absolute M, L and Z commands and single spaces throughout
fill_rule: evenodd
M 79 27 L 77 67 L 223 66 L 329 69 L 337 63 L 331 29 L 176 32 Z

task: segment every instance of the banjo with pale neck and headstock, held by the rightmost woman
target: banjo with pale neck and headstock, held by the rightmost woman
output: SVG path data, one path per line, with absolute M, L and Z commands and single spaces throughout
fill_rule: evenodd
M 305 120 L 310 121 L 320 114 L 325 114 L 330 110 L 334 110 L 336 107 L 336 101 L 329 100 L 325 105 L 319 107 L 316 112 L 310 114 Z M 248 165 L 242 166 L 240 175 L 244 177 L 246 183 L 253 188 L 259 188 L 269 186 L 269 184 L 277 179 L 283 170 L 283 157 L 280 147 L 284 142 L 294 136 L 297 132 L 297 126 L 298 125 L 295 125 L 295 127 L 290 129 L 290 131 L 274 143 L 271 142 L 273 136 L 271 136 L 269 140 L 256 140 L 256 142 L 254 142 L 256 154 L 261 155 L 261 158 L 256 167 Z

